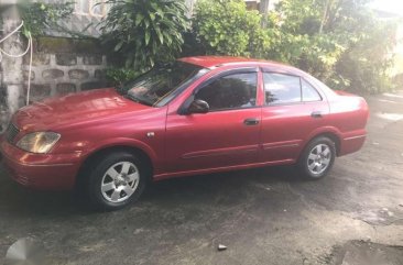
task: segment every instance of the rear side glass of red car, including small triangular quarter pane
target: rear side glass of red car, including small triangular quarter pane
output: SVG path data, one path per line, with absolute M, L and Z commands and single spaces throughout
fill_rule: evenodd
M 318 91 L 304 78 L 263 73 L 265 104 L 320 101 Z

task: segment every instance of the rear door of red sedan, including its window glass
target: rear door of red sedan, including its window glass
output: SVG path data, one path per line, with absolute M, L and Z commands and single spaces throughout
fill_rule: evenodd
M 262 162 L 292 163 L 308 135 L 325 124 L 325 96 L 303 77 L 263 71 Z

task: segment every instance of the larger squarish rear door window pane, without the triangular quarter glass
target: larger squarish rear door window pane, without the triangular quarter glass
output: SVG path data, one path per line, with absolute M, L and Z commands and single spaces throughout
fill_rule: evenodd
M 301 102 L 299 77 L 275 73 L 264 73 L 265 103 Z

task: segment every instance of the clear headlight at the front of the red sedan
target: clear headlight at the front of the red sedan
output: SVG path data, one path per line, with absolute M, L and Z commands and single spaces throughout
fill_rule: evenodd
M 35 153 L 46 154 L 61 139 L 61 134 L 54 132 L 35 132 L 23 136 L 17 146 L 21 150 Z

